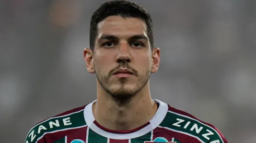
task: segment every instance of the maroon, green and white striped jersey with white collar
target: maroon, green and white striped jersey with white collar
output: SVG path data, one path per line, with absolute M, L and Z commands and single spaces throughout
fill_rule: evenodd
M 159 107 L 148 123 L 131 131 L 113 131 L 96 122 L 96 101 L 38 123 L 25 143 L 227 143 L 215 126 L 156 99 Z

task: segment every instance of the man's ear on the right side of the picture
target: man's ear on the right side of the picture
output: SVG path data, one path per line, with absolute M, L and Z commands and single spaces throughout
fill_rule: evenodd
M 159 64 L 160 64 L 160 49 L 159 48 L 154 48 L 152 50 L 151 73 L 157 72 Z

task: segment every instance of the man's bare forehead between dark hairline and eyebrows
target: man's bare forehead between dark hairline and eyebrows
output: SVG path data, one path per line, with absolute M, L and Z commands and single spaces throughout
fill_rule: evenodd
M 146 34 L 146 23 L 138 18 L 110 16 L 98 23 L 98 37 L 102 34 L 115 36 L 131 36 L 137 34 Z

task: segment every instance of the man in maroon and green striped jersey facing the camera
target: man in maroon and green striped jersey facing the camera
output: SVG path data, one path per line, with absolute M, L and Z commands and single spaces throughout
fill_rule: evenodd
M 35 125 L 26 143 L 227 143 L 213 125 L 150 97 L 160 50 L 141 6 L 102 4 L 91 17 L 84 59 L 97 77 L 97 100 Z

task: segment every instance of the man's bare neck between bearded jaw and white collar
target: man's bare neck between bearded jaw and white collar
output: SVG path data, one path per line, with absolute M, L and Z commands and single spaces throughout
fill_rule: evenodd
M 127 131 L 146 124 L 156 110 L 157 104 L 150 96 L 149 83 L 125 101 L 113 98 L 98 87 L 97 102 L 92 106 L 95 120 L 101 126 L 116 131 Z

